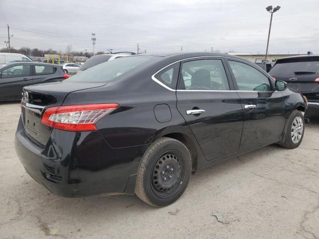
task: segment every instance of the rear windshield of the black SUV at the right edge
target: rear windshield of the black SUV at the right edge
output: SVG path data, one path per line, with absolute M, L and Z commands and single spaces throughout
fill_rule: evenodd
M 271 69 L 271 74 L 295 75 L 295 72 L 319 73 L 319 58 L 295 58 L 280 61 Z

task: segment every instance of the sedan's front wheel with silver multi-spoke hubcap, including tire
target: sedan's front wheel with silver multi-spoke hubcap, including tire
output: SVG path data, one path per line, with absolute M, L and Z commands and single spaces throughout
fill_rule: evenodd
M 279 145 L 285 148 L 297 148 L 304 138 L 304 126 L 303 114 L 300 111 L 294 111 L 288 119 L 286 132 Z

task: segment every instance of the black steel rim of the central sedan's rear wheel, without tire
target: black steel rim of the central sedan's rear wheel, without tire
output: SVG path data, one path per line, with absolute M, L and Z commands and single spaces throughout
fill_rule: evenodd
M 179 181 L 181 167 L 173 153 L 163 154 L 155 163 L 152 172 L 152 185 L 158 192 L 169 192 Z

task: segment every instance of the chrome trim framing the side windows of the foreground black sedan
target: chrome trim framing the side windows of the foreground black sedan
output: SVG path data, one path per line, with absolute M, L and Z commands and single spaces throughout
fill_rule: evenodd
M 225 91 L 225 90 L 174 90 L 174 89 L 171 89 L 169 88 L 168 86 L 166 86 L 165 84 L 161 83 L 156 77 L 155 75 L 158 74 L 160 71 L 164 70 L 165 68 L 177 63 L 177 62 L 181 62 L 181 61 L 185 61 L 185 60 L 189 60 L 189 59 L 196 59 L 196 58 L 203 58 L 203 57 L 210 57 L 210 58 L 229 58 L 229 59 L 234 59 L 234 60 L 238 60 L 238 61 L 241 61 L 241 62 L 244 62 L 244 63 L 248 63 L 248 65 L 254 67 L 252 64 L 250 64 L 249 62 L 247 61 L 244 61 L 244 60 L 241 60 L 241 59 L 237 59 L 237 58 L 234 58 L 234 57 L 228 57 L 228 56 L 194 56 L 194 57 L 189 57 L 189 58 L 184 58 L 184 59 L 181 59 L 181 60 L 178 60 L 178 61 L 175 61 L 173 63 L 170 63 L 169 65 L 167 66 L 164 66 L 163 68 L 161 68 L 159 71 L 157 71 L 156 73 L 154 73 L 152 75 L 152 80 L 155 81 L 156 83 L 158 83 L 160 86 L 164 87 L 165 89 L 169 90 L 169 91 L 178 91 L 178 92 L 255 92 L 255 91 Z M 259 69 L 257 67 L 255 67 L 258 71 Z M 264 74 L 265 75 L 265 74 Z

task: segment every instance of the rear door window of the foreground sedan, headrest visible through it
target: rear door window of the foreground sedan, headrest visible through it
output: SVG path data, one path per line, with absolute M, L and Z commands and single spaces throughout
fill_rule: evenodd
M 178 89 L 229 90 L 221 60 L 207 59 L 183 63 Z

